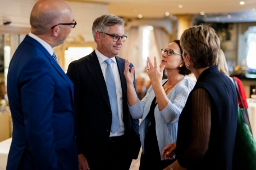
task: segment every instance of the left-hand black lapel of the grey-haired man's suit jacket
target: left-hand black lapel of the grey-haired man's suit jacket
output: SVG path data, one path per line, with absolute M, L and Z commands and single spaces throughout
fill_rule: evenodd
M 97 57 L 95 51 L 93 51 L 93 53 L 91 53 L 88 56 L 88 58 L 85 62 L 85 65 L 88 68 L 90 74 L 92 75 L 93 81 L 95 82 L 95 84 L 100 92 L 100 95 L 102 95 L 102 97 L 103 97 L 104 101 L 107 103 L 109 109 L 111 109 L 106 82 L 103 77 L 102 69 L 100 68 L 99 60 L 98 60 L 98 57 Z

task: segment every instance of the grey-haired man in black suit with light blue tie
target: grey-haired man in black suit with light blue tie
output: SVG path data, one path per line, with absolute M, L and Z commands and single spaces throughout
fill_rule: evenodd
M 67 70 L 75 91 L 79 169 L 128 170 L 140 139 L 139 120 L 132 119 L 127 105 L 125 60 L 116 56 L 126 40 L 124 20 L 103 15 L 92 30 L 97 48 Z

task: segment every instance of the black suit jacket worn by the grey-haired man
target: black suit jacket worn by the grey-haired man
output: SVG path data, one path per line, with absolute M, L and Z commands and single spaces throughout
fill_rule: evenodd
M 125 60 L 116 56 L 123 100 L 125 137 L 130 158 L 136 159 L 140 150 L 139 120 L 132 119 L 127 105 L 124 75 Z M 132 64 L 130 68 L 133 67 Z M 74 83 L 75 120 L 78 122 L 77 152 L 83 153 L 88 163 L 97 163 L 104 155 L 111 131 L 111 106 L 102 69 L 95 51 L 68 65 L 67 75 Z M 134 88 L 136 89 L 135 81 Z M 99 155 L 100 153 L 100 155 Z

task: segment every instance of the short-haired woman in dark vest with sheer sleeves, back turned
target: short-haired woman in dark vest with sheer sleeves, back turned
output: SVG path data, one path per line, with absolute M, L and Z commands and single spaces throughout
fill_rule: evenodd
M 220 39 L 211 27 L 193 26 L 181 35 L 186 68 L 197 79 L 183 108 L 177 143 L 162 156 L 176 159 L 170 169 L 232 169 L 237 129 L 234 84 L 216 65 Z

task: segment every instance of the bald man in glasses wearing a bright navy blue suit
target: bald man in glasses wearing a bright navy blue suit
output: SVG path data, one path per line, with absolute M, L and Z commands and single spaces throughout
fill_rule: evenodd
M 74 22 L 62 0 L 40 0 L 31 11 L 31 32 L 8 71 L 13 133 L 7 170 L 78 169 L 74 85 L 52 49 L 65 41 Z

